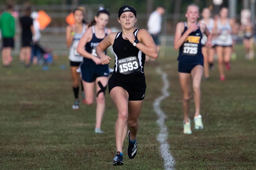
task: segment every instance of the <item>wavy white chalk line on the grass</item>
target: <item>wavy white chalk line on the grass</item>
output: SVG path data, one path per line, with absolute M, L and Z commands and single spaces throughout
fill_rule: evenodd
M 164 159 L 164 169 L 174 170 L 175 160 L 169 151 L 170 145 L 167 142 L 168 132 L 164 124 L 164 120 L 166 119 L 166 114 L 163 112 L 163 110 L 161 110 L 161 107 L 160 107 L 161 101 L 170 95 L 168 92 L 169 82 L 167 79 L 167 74 L 164 73 L 160 67 L 156 68 L 156 72 L 162 76 L 162 81 L 164 83 L 164 87 L 161 90 L 162 95 L 158 97 L 153 104 L 154 111 L 158 115 L 157 124 L 159 125 L 159 128 L 160 128 L 160 132 L 158 134 L 157 140 L 160 143 L 160 151 Z

